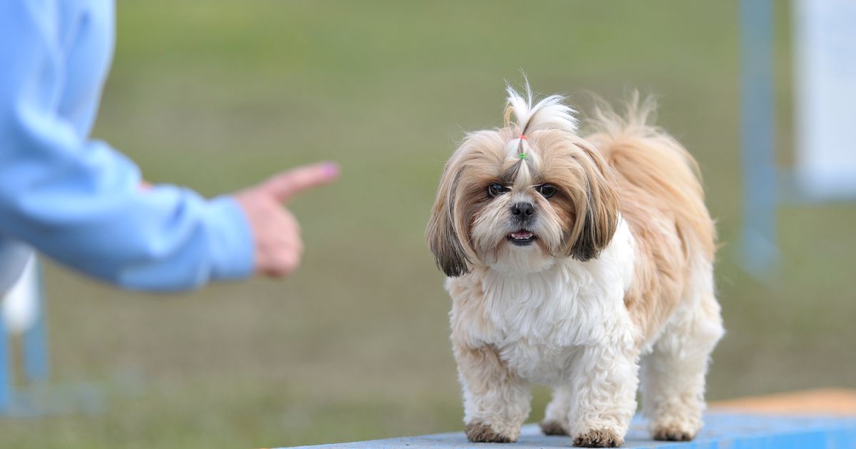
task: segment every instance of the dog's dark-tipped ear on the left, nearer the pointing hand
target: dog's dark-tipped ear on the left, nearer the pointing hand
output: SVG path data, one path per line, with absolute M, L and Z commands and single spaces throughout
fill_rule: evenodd
M 443 176 L 440 178 L 440 186 L 437 189 L 437 200 L 434 209 L 431 210 L 431 221 L 425 232 L 428 246 L 434 253 L 437 267 L 443 270 L 447 276 L 457 277 L 470 272 L 467 252 L 461 243 L 461 236 L 455 229 L 455 222 L 459 217 L 455 216 L 455 197 L 457 195 L 458 183 L 461 180 L 461 171 L 453 168 L 453 161 L 446 164 Z M 464 232 L 461 229 L 461 232 Z M 467 237 L 466 235 L 464 236 Z

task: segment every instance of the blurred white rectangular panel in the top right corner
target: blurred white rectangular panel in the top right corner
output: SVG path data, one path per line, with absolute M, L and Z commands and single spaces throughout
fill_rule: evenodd
M 856 1 L 794 2 L 796 176 L 810 197 L 856 194 Z

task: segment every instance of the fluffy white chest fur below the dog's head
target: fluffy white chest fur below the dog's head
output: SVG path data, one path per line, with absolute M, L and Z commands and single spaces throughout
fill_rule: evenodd
M 535 274 L 473 271 L 447 283 L 452 332 L 467 346 L 492 346 L 508 368 L 538 383 L 567 379 L 585 346 L 632 346 L 624 306 L 633 280 L 633 236 L 621 221 L 600 257 L 557 259 Z

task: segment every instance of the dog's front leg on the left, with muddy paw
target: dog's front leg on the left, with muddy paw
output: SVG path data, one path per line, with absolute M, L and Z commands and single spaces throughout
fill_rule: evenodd
M 467 439 L 479 443 L 511 443 L 529 416 L 529 384 L 511 372 L 493 346 L 455 346 L 464 390 Z

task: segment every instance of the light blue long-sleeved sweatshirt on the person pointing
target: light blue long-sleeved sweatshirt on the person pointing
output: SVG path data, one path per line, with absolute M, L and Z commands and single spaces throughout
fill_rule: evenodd
M 0 281 L 26 260 L 21 243 L 132 289 L 247 277 L 233 198 L 142 189 L 134 162 L 90 139 L 114 24 L 112 0 L 0 1 Z

